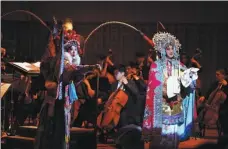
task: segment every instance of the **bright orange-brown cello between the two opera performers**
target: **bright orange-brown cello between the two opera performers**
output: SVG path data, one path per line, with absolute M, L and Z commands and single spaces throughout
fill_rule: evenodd
M 128 95 L 121 90 L 123 84 L 114 91 L 105 103 L 104 110 L 97 117 L 99 128 L 113 129 L 119 123 L 120 112 L 128 101 Z

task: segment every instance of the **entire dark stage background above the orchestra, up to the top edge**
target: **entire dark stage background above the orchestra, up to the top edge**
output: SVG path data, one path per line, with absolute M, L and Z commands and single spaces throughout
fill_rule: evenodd
M 123 21 L 150 38 L 157 32 L 157 21 L 174 34 L 182 51 L 190 56 L 203 51 L 201 63 L 203 91 L 215 78 L 217 68 L 228 67 L 227 2 L 1 2 L 2 14 L 16 9 L 29 10 L 51 26 L 52 16 L 71 17 L 74 28 L 86 37 L 103 22 Z M 48 42 L 49 32 L 32 16 L 14 13 L 1 20 L 2 47 L 18 61 L 37 61 Z M 84 63 L 95 63 L 96 55 L 111 48 L 116 63 L 134 60 L 135 52 L 147 53 L 150 46 L 134 30 L 122 25 L 99 29 L 86 45 Z

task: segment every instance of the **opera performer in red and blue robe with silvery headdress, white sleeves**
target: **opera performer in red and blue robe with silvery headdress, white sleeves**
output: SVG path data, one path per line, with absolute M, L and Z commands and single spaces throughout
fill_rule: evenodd
M 180 63 L 181 44 L 170 33 L 156 33 L 153 42 L 161 58 L 150 67 L 143 138 L 151 149 L 177 149 L 193 120 L 194 102 L 187 101 L 194 98 L 198 69 Z

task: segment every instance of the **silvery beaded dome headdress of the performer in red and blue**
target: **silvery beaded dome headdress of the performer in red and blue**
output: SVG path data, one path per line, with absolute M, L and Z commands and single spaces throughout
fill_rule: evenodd
M 161 53 L 161 57 L 164 58 L 166 56 L 166 48 L 171 45 L 174 50 L 174 58 L 179 57 L 179 49 L 181 48 L 181 44 L 179 40 L 171 35 L 170 33 L 158 32 L 153 38 L 154 48 L 156 51 Z

